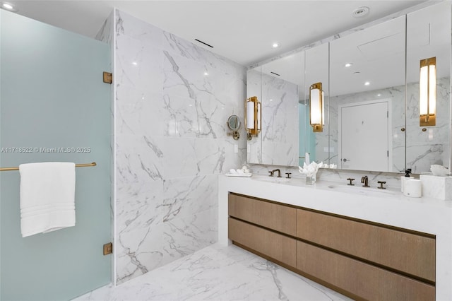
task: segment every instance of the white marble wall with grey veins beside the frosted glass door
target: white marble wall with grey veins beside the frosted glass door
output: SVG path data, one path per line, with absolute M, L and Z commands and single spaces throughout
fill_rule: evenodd
M 218 175 L 245 162 L 246 69 L 115 11 L 116 279 L 217 240 Z M 239 153 L 234 153 L 234 144 Z

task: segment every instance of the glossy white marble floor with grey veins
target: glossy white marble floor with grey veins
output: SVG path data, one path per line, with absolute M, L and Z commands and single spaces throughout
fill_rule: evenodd
M 213 244 L 75 300 L 350 300 L 234 245 Z

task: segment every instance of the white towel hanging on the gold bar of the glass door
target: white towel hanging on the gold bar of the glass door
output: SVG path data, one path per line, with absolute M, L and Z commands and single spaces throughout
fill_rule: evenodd
M 22 237 L 76 225 L 76 165 L 65 162 L 19 165 Z

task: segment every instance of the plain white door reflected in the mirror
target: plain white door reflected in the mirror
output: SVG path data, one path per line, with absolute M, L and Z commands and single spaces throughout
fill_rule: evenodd
M 340 168 L 388 171 L 391 150 L 388 108 L 388 100 L 339 107 Z

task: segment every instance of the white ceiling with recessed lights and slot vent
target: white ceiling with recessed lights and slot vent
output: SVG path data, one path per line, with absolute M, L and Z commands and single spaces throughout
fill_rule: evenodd
M 114 7 L 250 66 L 324 37 L 369 23 L 425 0 L 316 1 L 7 1 L 18 13 L 59 28 L 95 37 Z M 367 16 L 352 11 L 368 6 Z M 280 43 L 274 49 L 273 42 Z

